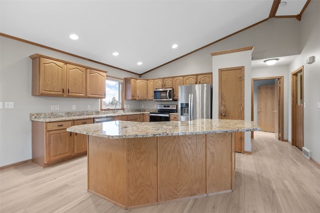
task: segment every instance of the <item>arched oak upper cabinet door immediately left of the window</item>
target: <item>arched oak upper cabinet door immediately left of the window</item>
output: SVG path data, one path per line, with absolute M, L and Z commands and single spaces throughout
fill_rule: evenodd
M 87 97 L 105 98 L 105 72 L 87 69 Z

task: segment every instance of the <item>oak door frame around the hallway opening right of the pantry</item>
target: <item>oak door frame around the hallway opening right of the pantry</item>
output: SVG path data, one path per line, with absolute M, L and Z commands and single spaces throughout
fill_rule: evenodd
M 256 80 L 268 80 L 268 79 L 279 79 L 280 80 L 280 140 L 287 141 L 283 139 L 283 76 L 272 76 L 272 77 L 264 77 L 264 78 L 251 78 L 251 121 L 253 121 L 253 93 L 254 93 L 254 81 Z M 254 138 L 253 131 L 251 132 L 251 138 Z

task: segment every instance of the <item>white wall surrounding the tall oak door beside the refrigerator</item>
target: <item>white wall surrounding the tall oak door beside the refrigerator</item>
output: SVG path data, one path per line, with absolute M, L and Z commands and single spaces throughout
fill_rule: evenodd
M 251 120 L 251 50 L 212 56 L 212 119 L 219 117 L 220 68 L 244 66 L 244 120 Z M 244 132 L 244 151 L 251 152 L 251 132 Z

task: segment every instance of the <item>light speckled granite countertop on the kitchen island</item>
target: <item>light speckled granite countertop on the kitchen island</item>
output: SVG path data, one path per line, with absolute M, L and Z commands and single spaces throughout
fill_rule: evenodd
M 72 126 L 66 129 L 69 132 L 115 139 L 259 130 L 261 129 L 253 121 L 218 119 L 198 119 L 178 122 L 109 121 Z

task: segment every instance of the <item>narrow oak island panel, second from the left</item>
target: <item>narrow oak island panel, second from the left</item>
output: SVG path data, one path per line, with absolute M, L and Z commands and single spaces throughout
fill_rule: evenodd
M 156 204 L 157 138 L 129 138 L 127 141 L 127 206 Z

